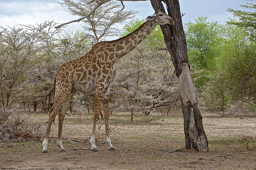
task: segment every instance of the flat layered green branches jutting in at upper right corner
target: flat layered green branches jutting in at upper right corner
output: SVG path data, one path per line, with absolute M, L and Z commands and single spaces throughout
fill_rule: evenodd
M 234 17 L 238 18 L 238 21 L 230 20 L 227 21 L 227 24 L 232 24 L 243 28 L 250 35 L 250 38 L 254 39 L 256 36 L 256 4 L 246 3 L 246 5 L 241 5 L 246 9 L 250 9 L 252 11 L 241 11 L 241 10 L 233 10 L 228 8 L 227 11 L 232 12 Z

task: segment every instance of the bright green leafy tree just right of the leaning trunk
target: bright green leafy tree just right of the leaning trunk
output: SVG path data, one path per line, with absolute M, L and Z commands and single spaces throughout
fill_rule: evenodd
M 220 26 L 209 23 L 207 17 L 198 17 L 196 23 L 188 22 L 186 27 L 187 48 L 191 64 L 200 69 L 212 70 L 216 64 Z

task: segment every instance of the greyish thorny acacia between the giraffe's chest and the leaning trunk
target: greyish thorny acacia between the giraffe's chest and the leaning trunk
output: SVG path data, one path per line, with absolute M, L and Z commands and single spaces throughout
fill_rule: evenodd
M 144 20 L 132 20 L 124 26 L 125 36 L 136 30 Z M 134 50 L 120 58 L 114 65 L 116 78 L 112 87 L 118 91 L 119 110 L 149 115 L 155 108 L 170 106 L 180 98 L 178 80 L 167 51 L 157 51 L 164 40 L 160 27 L 143 40 Z

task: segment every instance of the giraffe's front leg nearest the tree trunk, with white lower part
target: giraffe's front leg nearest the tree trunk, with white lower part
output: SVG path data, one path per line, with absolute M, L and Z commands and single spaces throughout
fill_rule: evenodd
M 106 143 L 108 144 L 108 150 L 116 150 L 111 144 L 111 139 L 109 135 L 109 91 L 107 91 L 103 97 L 103 107 L 104 107 L 104 120 L 106 127 Z

